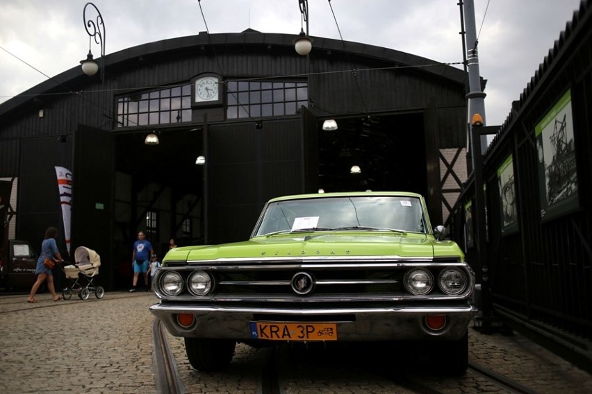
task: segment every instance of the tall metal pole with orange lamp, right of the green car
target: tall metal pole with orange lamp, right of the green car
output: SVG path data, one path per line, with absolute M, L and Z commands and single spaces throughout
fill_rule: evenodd
M 479 128 L 485 126 L 485 93 L 481 89 L 481 77 L 479 76 L 479 56 L 477 54 L 477 33 L 475 29 L 475 6 L 473 0 L 463 0 L 463 9 L 466 29 L 466 48 L 467 48 L 467 68 L 469 77 L 468 99 L 468 128 L 471 140 L 470 150 L 472 157 L 472 173 L 475 187 L 475 245 L 477 246 L 477 256 L 479 258 L 479 270 L 477 271 L 481 279 L 482 291 L 482 331 L 485 334 L 491 332 L 491 295 L 489 293 L 488 277 L 488 256 L 485 228 L 485 196 L 483 192 L 483 153 L 486 145 L 482 144 L 482 136 Z M 482 117 L 482 123 L 473 123 L 472 117 L 479 114 Z

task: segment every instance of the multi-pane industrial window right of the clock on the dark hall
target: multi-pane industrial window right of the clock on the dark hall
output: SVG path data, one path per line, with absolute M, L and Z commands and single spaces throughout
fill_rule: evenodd
M 309 87 L 300 82 L 229 81 L 227 118 L 261 118 L 293 115 L 308 107 Z

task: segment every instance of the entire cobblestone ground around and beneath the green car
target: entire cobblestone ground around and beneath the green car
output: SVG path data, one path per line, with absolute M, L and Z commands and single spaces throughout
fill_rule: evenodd
M 0 393 L 155 393 L 151 293 L 106 292 L 82 301 L 38 295 L 0 296 Z M 520 334 L 469 330 L 470 361 L 538 393 L 592 393 L 592 377 Z M 236 347 L 230 368 L 198 372 L 188 363 L 183 339 L 167 334 L 185 393 L 248 394 L 261 390 L 270 350 Z M 391 354 L 384 368 L 368 352 L 277 351 L 282 394 L 413 393 L 411 379 L 441 393 L 505 393 L 469 370 L 461 378 L 406 368 L 406 354 Z M 404 370 L 400 372 L 400 370 Z M 403 377 L 403 378 L 402 378 Z M 403 380 L 402 380 L 403 379 Z

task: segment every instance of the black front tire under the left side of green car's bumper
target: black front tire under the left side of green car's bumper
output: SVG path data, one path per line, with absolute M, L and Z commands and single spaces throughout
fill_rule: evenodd
M 215 371 L 227 368 L 234 356 L 235 341 L 228 339 L 186 338 L 185 351 L 196 370 Z

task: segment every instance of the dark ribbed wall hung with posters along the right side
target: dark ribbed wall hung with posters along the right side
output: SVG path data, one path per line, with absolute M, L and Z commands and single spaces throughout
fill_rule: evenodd
M 592 370 L 592 1 L 584 0 L 520 95 L 450 216 L 494 318 L 529 329 Z M 484 298 L 485 299 L 485 298 Z

